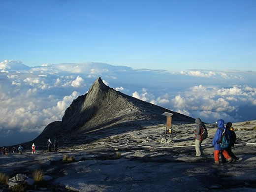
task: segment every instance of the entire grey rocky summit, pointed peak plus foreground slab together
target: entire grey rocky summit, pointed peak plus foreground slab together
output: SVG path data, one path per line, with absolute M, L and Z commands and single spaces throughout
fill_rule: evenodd
M 174 114 L 167 142 L 165 111 Z M 0 155 L 0 192 L 256 191 L 256 121 L 233 123 L 232 150 L 242 160 L 218 165 L 211 146 L 217 125 L 205 125 L 204 155 L 196 157 L 193 118 L 117 92 L 98 78 L 62 121 L 23 144 L 24 153 Z M 58 139 L 58 152 L 45 150 L 48 138 Z

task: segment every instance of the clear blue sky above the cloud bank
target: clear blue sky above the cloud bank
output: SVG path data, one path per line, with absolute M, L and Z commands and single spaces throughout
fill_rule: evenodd
M 256 70 L 255 0 L 0 0 L 0 61 Z

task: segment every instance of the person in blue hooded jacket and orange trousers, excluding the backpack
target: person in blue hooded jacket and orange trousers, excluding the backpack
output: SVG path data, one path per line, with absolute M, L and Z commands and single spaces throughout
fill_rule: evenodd
M 228 155 L 226 149 L 221 148 L 220 142 L 221 137 L 224 131 L 227 131 L 227 129 L 224 127 L 224 120 L 220 119 L 217 121 L 218 128 L 216 130 L 216 133 L 213 138 L 212 146 L 214 146 L 214 163 L 220 164 L 220 153 L 224 155 L 224 158 L 227 160 L 228 163 L 232 162 L 233 159 Z M 228 134 L 228 132 L 227 132 Z

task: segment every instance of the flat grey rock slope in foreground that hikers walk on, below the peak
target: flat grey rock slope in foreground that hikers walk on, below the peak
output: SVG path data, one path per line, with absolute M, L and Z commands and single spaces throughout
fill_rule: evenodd
M 9 177 L 0 192 L 255 192 L 256 121 L 233 123 L 232 150 L 242 160 L 220 165 L 213 163 L 211 146 L 216 124 L 206 124 L 203 157 L 195 157 L 195 127 L 173 125 L 171 142 L 162 142 L 165 125 L 158 124 L 112 130 L 91 143 L 60 143 L 58 152 L 32 154 L 30 146 L 23 154 L 0 155 L 0 173 Z M 40 185 L 32 175 L 38 169 L 44 174 Z

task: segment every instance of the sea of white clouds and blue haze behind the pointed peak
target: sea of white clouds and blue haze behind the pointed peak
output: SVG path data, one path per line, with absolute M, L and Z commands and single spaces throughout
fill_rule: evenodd
M 62 120 L 73 99 L 99 76 L 117 91 L 207 123 L 255 119 L 255 71 L 172 72 L 102 63 L 29 67 L 5 60 L 0 62 L 0 146 L 32 140 Z

